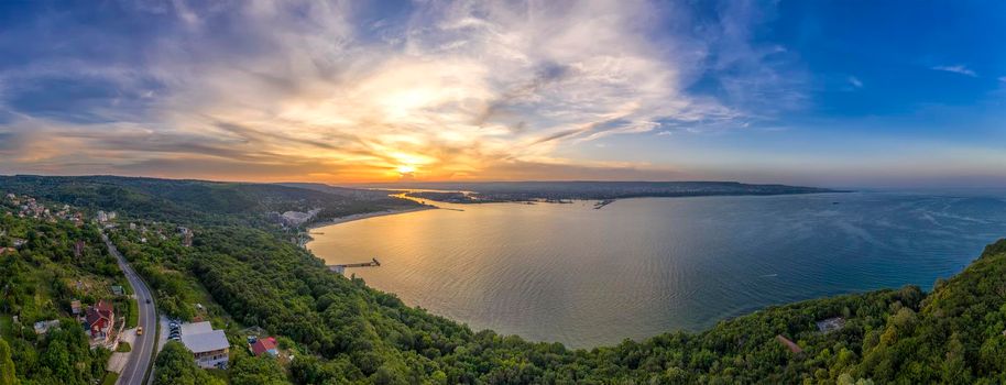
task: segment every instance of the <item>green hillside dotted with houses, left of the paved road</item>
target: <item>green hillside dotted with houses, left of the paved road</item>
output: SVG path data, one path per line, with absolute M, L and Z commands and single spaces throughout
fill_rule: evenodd
M 125 278 L 96 227 L 55 206 L 25 215 L 18 199 L 0 196 L 0 384 L 94 384 L 111 352 L 90 346 L 72 302 L 106 300 L 130 319 L 129 299 L 112 293 Z

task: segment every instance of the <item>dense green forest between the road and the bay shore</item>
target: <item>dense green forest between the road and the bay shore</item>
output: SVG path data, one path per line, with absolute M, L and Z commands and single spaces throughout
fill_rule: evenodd
M 184 346 L 168 344 L 157 365 L 175 370 L 158 374 L 155 380 L 161 384 L 1006 382 L 1006 240 L 987 246 L 967 268 L 938 282 L 931 293 L 907 286 L 814 299 L 724 320 L 702 332 L 670 332 L 613 346 L 570 350 L 559 343 L 473 331 L 409 307 L 359 278 L 331 274 L 264 219 L 269 208 L 183 218 L 196 234 L 186 248 L 177 234 L 170 233 L 176 217 L 138 205 L 181 200 L 183 195 L 155 196 L 122 178 L 127 183 L 111 184 L 123 191 L 117 199 L 125 201 L 91 202 L 90 183 L 78 180 L 76 187 L 66 187 L 48 179 L 35 179 L 53 185 L 43 190 L 59 191 L 48 193 L 48 199 L 120 210 L 128 218 L 120 221 L 142 223 L 135 230 L 120 226 L 111 235 L 153 286 L 162 311 L 183 319 L 209 318 L 226 328 L 232 346 L 241 343 L 241 328 L 263 328 L 280 337 L 284 349 L 296 352 L 296 360 L 281 363 L 233 348 L 227 373 L 209 373 L 185 360 Z M 36 182 L 22 180 L 17 193 L 31 190 L 32 183 Z M 0 193 L 7 189 L 11 188 L 0 184 Z M 328 199 L 333 200 L 331 207 L 371 205 L 343 195 Z M 188 201 L 174 205 L 197 207 Z M 229 220 L 229 216 L 240 219 Z M 151 232 L 164 237 L 144 235 Z M 20 254 L 17 258 L 23 260 Z M 195 302 L 205 306 L 204 314 L 198 314 Z M 833 317 L 844 323 L 820 331 L 816 322 Z M 780 337 L 796 349 L 781 343 Z M 0 369 L 3 362 L 0 356 Z

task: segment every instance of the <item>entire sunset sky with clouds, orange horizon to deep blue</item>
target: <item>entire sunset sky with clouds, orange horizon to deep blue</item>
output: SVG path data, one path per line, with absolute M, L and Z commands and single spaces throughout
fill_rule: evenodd
M 3 1 L 0 174 L 1006 187 L 1006 2 Z

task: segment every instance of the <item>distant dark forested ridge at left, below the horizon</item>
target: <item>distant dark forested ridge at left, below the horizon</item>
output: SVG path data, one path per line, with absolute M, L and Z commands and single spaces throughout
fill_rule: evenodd
M 269 213 L 288 210 L 320 209 L 318 217 L 324 219 L 417 206 L 404 199 L 361 198 L 280 185 L 119 176 L 0 176 L 0 190 L 179 224 L 266 226 Z

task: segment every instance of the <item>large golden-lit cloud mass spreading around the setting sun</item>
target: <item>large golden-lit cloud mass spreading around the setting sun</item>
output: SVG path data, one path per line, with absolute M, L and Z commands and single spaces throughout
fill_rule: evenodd
M 33 41 L 0 52 L 32 58 L 0 73 L 0 111 L 13 117 L 0 130 L 19 143 L 0 151 L 17 162 L 8 169 L 25 172 L 241 179 L 380 180 L 402 166 L 416 178 L 511 178 L 527 175 L 516 167 L 569 167 L 575 160 L 555 154 L 578 143 L 733 127 L 801 101 L 799 76 L 783 74 L 785 50 L 750 44 L 761 15 L 728 4 L 702 28 L 684 6 L 635 0 L 422 1 L 395 12 L 124 2 L 97 14 L 107 31 L 67 19 L 75 12 L 39 14 L 0 37 Z M 106 35 L 116 44 L 92 44 Z M 63 40 L 73 44 L 58 55 L 33 51 Z M 703 76 L 724 94 L 690 92 Z M 754 108 L 759 100 L 773 109 Z M 577 173 L 622 166 L 631 167 Z

